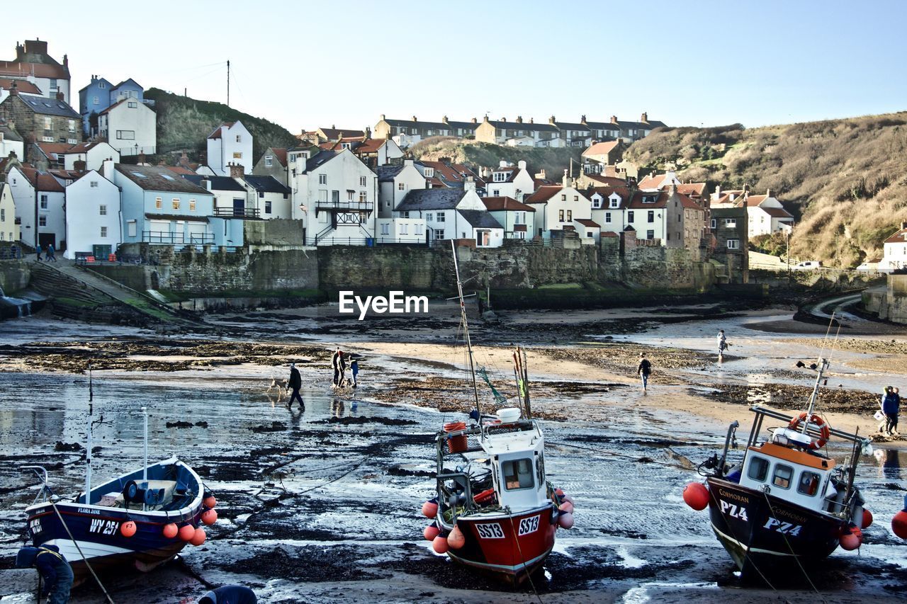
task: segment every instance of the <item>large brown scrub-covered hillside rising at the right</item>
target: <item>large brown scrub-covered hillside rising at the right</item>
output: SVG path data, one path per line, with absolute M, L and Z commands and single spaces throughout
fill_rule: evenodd
M 907 220 L 907 112 L 746 129 L 669 128 L 630 146 L 678 178 L 776 191 L 797 217 L 791 254 L 841 267 L 881 256 Z

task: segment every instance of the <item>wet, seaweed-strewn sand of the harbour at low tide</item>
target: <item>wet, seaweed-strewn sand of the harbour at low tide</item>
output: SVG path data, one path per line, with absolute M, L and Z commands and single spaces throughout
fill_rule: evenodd
M 218 339 L 17 321 L 0 347 L 0 494 L 8 511 L 0 568 L 9 568 L 22 542 L 22 510 L 34 497 L 16 467 L 51 466 L 63 493 L 82 480 L 83 452 L 75 447 L 83 441 L 82 372 L 91 360 L 95 413 L 112 418 L 95 430 L 95 475 L 141 461 L 136 410 L 145 404 L 152 452 L 180 453 L 220 501 L 210 541 L 188 547 L 180 563 L 105 579 L 117 601 L 190 602 L 205 583 L 223 582 L 246 583 L 260 601 L 281 603 L 901 598 L 907 553 L 888 521 L 901 505 L 904 441 L 878 443 L 861 464 L 858 480 L 877 521 L 859 555 L 839 550 L 812 577 L 821 596 L 802 577 L 776 585 L 780 592 L 739 585 L 707 516 L 684 506 L 680 491 L 696 463 L 723 443 L 729 422 L 748 428 L 747 404 L 794 408 L 802 400 L 814 374 L 795 362 L 814 358 L 821 344 L 807 329 L 750 328 L 787 320 L 778 311 L 709 317 L 702 307 L 674 310 L 508 313 L 504 326 L 475 322 L 473 342 L 495 345 L 475 346 L 476 364 L 506 397 L 515 395 L 509 345 L 527 346 L 550 479 L 577 503 L 577 526 L 559 531 L 534 585 L 538 598 L 533 586 L 513 590 L 463 575 L 421 540 L 432 434 L 472 405 L 468 359 L 454 346 L 455 307 L 361 323 L 330 307 L 225 315 L 211 321 Z M 712 351 L 718 326 L 732 344 L 721 365 Z M 880 385 L 907 384 L 903 349 L 881 344 L 892 339 L 907 343 L 903 335 L 861 336 L 835 353 L 819 409 L 835 427 L 868 434 Z M 355 391 L 327 386 L 338 345 L 365 355 Z M 655 365 L 646 395 L 634 375 L 640 350 Z M 892 358 L 894 371 L 857 366 Z M 304 378 L 302 410 L 265 392 L 290 360 Z M 482 382 L 480 393 L 493 409 Z M 0 601 L 34 601 L 15 577 L 0 570 Z M 72 601 L 102 599 L 86 586 Z

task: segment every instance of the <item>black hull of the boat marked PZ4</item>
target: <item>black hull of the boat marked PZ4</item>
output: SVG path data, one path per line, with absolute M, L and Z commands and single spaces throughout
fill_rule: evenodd
M 712 530 L 745 576 L 790 572 L 824 560 L 846 522 L 763 492 L 707 478 Z

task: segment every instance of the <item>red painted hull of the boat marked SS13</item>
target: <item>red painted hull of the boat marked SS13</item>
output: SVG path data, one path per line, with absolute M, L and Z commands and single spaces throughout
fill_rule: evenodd
M 548 558 L 554 547 L 557 512 L 549 502 L 530 511 L 461 516 L 465 544 L 449 550 L 452 560 L 517 584 Z

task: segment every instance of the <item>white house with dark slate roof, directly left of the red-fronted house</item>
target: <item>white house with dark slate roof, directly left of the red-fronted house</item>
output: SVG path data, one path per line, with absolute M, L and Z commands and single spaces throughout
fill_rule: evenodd
M 485 209 L 473 181 L 467 181 L 463 189 L 411 190 L 394 215 L 398 219 L 424 219 L 430 242 L 475 239 L 477 247 L 498 248 L 504 239 L 503 227 Z

